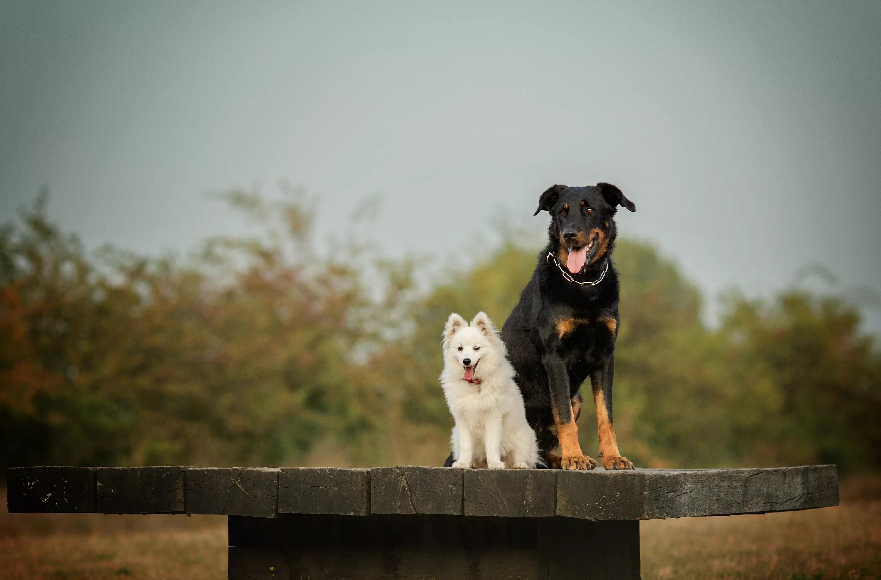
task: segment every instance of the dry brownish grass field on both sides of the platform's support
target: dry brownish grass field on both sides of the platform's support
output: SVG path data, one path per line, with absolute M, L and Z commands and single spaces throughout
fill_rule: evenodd
M 642 577 L 881 579 L 877 484 L 836 508 L 643 522 Z M 0 578 L 121 577 L 225 578 L 226 518 L 0 513 Z

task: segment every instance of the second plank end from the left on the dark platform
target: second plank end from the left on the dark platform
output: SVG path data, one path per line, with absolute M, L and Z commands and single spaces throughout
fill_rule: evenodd
M 105 514 L 183 513 L 184 468 L 99 467 L 98 511 Z

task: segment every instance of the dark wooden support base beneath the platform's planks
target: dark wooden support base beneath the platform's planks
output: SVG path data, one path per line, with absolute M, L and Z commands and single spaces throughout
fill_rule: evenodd
M 636 521 L 436 515 L 229 517 L 229 577 L 640 577 Z

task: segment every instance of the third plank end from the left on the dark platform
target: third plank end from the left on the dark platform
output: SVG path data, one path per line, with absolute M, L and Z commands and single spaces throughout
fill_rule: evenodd
M 188 467 L 186 471 L 188 514 L 278 514 L 278 469 Z

